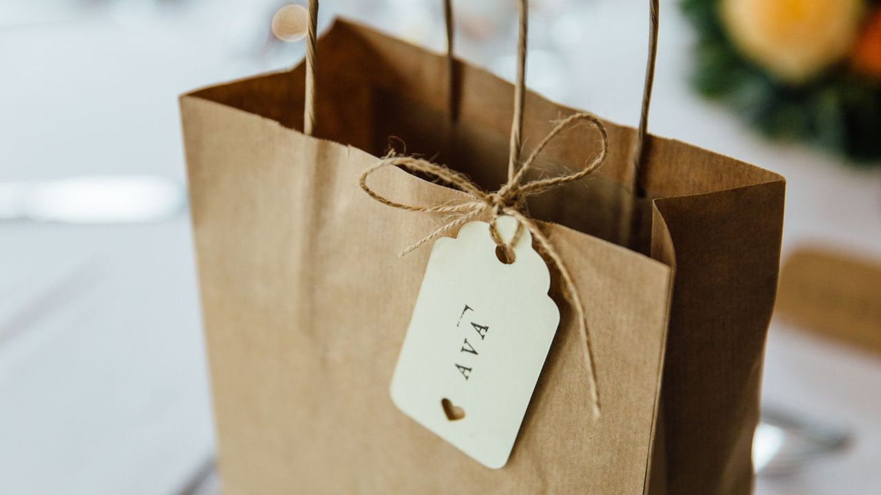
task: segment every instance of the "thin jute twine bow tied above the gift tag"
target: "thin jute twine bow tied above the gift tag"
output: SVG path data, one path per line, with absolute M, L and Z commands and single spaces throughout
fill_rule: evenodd
M 564 129 L 572 127 L 576 123 L 582 121 L 589 122 L 600 135 L 601 148 L 596 157 L 590 160 L 587 166 L 584 166 L 578 172 L 523 182 L 523 176 L 533 166 L 538 155 L 541 153 L 542 150 L 544 150 L 544 147 Z M 393 208 L 398 208 L 405 211 L 442 213 L 448 215 L 449 220 L 446 224 L 441 225 L 432 233 L 426 235 L 426 237 L 414 242 L 410 247 L 404 249 L 400 254 L 401 256 L 412 253 L 422 245 L 426 244 L 426 242 L 441 236 L 441 234 L 447 232 L 450 229 L 465 224 L 471 219 L 478 217 L 485 211 L 490 211 L 492 213 L 492 222 L 490 223 L 490 234 L 492 235 L 492 240 L 495 241 L 497 246 L 503 249 L 504 253 L 507 255 L 508 260 L 514 259 L 513 246 L 515 246 L 517 241 L 520 239 L 523 228 L 525 227 L 529 230 L 529 233 L 532 233 L 532 237 L 536 240 L 538 246 L 549 258 L 551 258 L 554 264 L 557 265 L 557 270 L 559 270 L 560 277 L 563 280 L 563 295 L 574 307 L 575 314 L 578 318 L 579 326 L 581 329 L 581 336 L 584 339 L 584 360 L 589 370 L 588 378 L 590 388 L 590 405 L 594 417 L 599 417 L 600 400 L 596 383 L 596 366 L 594 364 L 588 325 L 584 314 L 584 305 L 581 303 L 581 297 L 579 296 L 578 290 L 575 287 L 572 275 L 566 268 L 566 263 L 564 263 L 563 260 L 560 258 L 557 250 L 553 247 L 551 241 L 548 240 L 547 236 L 545 236 L 544 233 L 542 233 L 542 231 L 538 228 L 537 223 L 529 218 L 527 215 L 525 215 L 522 211 L 525 205 L 525 200 L 528 196 L 541 194 L 552 188 L 562 186 L 563 184 L 566 184 L 568 182 L 578 181 L 595 172 L 596 169 L 603 163 L 603 160 L 605 160 L 608 150 L 609 137 L 606 135 L 606 130 L 605 126 L 603 126 L 603 122 L 597 119 L 596 116 L 589 113 L 579 113 L 570 115 L 563 121 L 559 122 L 529 154 L 529 157 L 523 162 L 523 165 L 516 171 L 516 173 L 509 174 L 509 179 L 507 183 L 502 185 L 502 187 L 495 192 L 484 191 L 483 189 L 479 188 L 477 184 L 471 181 L 466 175 L 456 172 L 455 170 L 451 170 L 447 166 L 438 165 L 426 159 L 418 159 L 406 156 L 392 156 L 391 154 L 389 154 L 389 156 L 387 156 L 386 158 L 381 159 L 374 166 L 370 166 L 369 168 L 367 168 L 359 178 L 359 185 L 361 189 L 363 189 L 368 196 L 374 198 L 374 200 L 380 203 L 387 204 Z M 455 186 L 456 188 L 459 188 L 465 194 L 466 199 L 460 203 L 444 203 L 433 206 L 413 206 L 409 204 L 396 203 L 385 196 L 381 196 L 379 193 L 367 186 L 367 176 L 373 174 L 376 170 L 382 168 L 383 166 L 401 166 L 407 170 L 410 170 L 411 172 L 419 172 L 422 174 L 433 176 L 441 181 L 447 182 L 448 184 Z M 517 220 L 517 229 L 511 240 L 502 240 L 499 232 L 496 230 L 496 219 L 499 218 L 500 215 L 510 215 Z

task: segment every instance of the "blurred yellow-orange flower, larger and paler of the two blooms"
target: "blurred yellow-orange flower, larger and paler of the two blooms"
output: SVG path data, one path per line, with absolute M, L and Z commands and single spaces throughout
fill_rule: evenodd
M 744 55 L 798 84 L 848 55 L 863 9 L 862 0 L 722 0 L 720 13 Z

